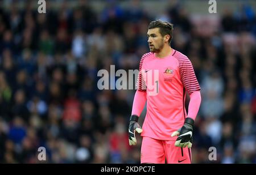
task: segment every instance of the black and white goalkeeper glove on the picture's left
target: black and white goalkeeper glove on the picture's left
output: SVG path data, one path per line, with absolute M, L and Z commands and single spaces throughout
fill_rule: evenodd
M 130 118 L 130 124 L 129 124 L 129 144 L 131 145 L 135 145 L 137 143 L 137 140 L 135 138 L 135 131 L 137 131 L 138 133 L 142 133 L 142 129 L 141 126 L 139 126 L 138 124 L 138 116 L 131 116 Z

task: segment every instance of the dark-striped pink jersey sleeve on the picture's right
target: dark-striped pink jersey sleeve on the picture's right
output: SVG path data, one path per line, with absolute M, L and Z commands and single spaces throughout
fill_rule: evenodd
M 179 62 L 180 80 L 188 94 L 190 95 L 195 91 L 199 91 L 201 88 L 197 81 L 191 61 L 187 56 L 180 52 L 174 53 L 174 57 Z

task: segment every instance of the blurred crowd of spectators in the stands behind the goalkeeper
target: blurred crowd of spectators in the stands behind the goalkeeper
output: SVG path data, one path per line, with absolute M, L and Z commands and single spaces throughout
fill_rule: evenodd
M 100 69 L 138 69 L 151 20 L 174 23 L 202 103 L 193 163 L 256 163 L 256 2 L 0 1 L 0 163 L 140 163 L 130 147 L 135 90 L 97 88 Z M 188 105 L 189 96 L 186 104 Z M 143 123 L 146 108 L 139 123 Z M 217 160 L 209 161 L 209 147 Z

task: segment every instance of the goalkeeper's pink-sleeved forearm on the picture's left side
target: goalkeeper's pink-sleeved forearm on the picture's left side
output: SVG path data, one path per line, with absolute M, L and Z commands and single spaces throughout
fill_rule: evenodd
M 131 111 L 131 115 L 140 116 L 144 105 L 146 104 L 147 93 L 142 91 L 136 91 L 133 100 L 133 109 Z

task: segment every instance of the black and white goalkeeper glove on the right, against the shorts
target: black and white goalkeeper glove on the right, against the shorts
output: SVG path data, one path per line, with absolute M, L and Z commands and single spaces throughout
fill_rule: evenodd
M 187 117 L 185 119 L 184 125 L 171 136 L 178 136 L 175 142 L 176 147 L 188 148 L 192 147 L 192 133 L 193 133 L 194 120 Z

